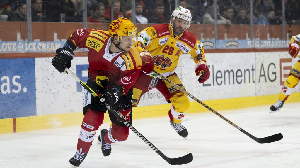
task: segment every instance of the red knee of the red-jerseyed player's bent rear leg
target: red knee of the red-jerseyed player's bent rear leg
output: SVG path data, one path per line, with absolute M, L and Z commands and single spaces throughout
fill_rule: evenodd
M 123 142 L 123 141 L 127 140 L 127 138 L 128 138 L 129 128 L 127 126 L 119 126 L 119 125 L 113 123 L 113 126 L 111 126 L 107 130 L 107 135 L 108 135 L 108 139 L 110 141 L 112 141 L 113 143 Z M 105 141 L 107 141 L 107 140 L 105 140 Z

